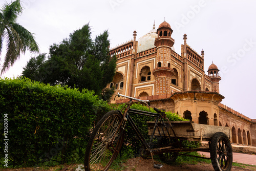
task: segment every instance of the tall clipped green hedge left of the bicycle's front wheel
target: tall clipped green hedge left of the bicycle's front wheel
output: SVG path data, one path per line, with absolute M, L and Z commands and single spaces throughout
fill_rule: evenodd
M 8 152 L 0 145 L 1 163 L 35 166 L 77 162 L 83 158 L 96 112 L 110 106 L 93 92 L 49 86 L 29 79 L 0 79 L 0 128 L 8 117 Z M 7 122 L 7 121 L 5 121 Z M 2 165 L 2 164 L 1 164 Z

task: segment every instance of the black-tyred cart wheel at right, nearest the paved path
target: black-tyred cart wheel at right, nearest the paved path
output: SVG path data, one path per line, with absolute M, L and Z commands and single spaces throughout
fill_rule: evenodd
M 211 137 L 210 159 L 216 171 L 229 171 L 232 167 L 232 146 L 228 137 L 222 133 L 215 133 Z

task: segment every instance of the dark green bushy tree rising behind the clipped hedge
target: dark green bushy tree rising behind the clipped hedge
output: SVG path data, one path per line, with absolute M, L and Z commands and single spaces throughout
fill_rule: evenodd
M 93 40 L 89 24 L 84 25 L 60 44 L 51 45 L 48 59 L 45 54 L 31 58 L 22 76 L 101 95 L 116 69 L 116 58 L 109 55 L 108 36 L 108 31 L 104 31 Z

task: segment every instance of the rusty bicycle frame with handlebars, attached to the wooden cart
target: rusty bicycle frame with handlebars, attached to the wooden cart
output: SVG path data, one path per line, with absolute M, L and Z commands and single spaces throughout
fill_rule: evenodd
M 161 168 L 162 165 L 155 164 L 154 159 L 153 159 L 153 155 L 158 155 L 158 154 L 163 154 L 163 153 L 179 153 L 179 152 L 188 152 L 189 153 L 189 152 L 197 152 L 197 151 L 210 152 L 210 148 L 182 148 L 182 145 L 179 142 L 178 137 L 175 134 L 175 131 L 174 131 L 173 126 L 172 126 L 172 123 L 170 123 L 169 119 L 166 118 L 166 114 L 164 112 L 162 112 L 161 110 L 154 108 L 154 110 L 157 113 L 153 113 L 153 112 L 145 112 L 145 111 L 130 109 L 130 106 L 132 105 L 133 100 L 137 100 L 137 101 L 143 102 L 143 103 L 147 104 L 148 107 L 150 106 L 150 101 L 149 100 L 136 99 L 136 98 L 133 98 L 133 97 L 121 95 L 119 93 L 116 96 L 122 96 L 122 97 L 130 99 L 129 102 L 127 102 L 124 105 L 123 109 L 121 110 L 121 111 L 124 110 L 124 112 L 122 113 L 120 111 L 120 113 L 123 115 L 123 119 L 122 119 L 121 124 L 119 126 L 122 126 L 122 129 L 124 129 L 126 121 L 132 126 L 133 130 L 137 134 L 137 137 L 141 141 L 141 143 L 142 143 L 142 145 L 143 145 L 143 147 L 145 149 L 145 152 L 147 152 L 147 154 L 151 155 L 155 168 Z M 139 115 L 144 115 L 144 116 L 154 117 L 155 118 L 155 126 L 154 126 L 154 129 L 153 129 L 153 133 L 150 136 L 150 142 L 147 142 L 145 140 L 145 138 L 143 137 L 143 135 L 139 131 L 138 127 L 134 123 L 133 119 L 131 118 L 130 114 L 139 114 Z M 159 123 L 161 125 L 160 129 L 162 130 L 162 132 L 164 132 L 164 129 L 166 129 L 166 131 L 167 131 L 168 135 L 164 135 L 164 136 L 168 136 L 171 139 L 170 133 L 169 133 L 169 131 L 167 129 L 166 122 L 164 122 L 164 119 L 167 120 L 167 124 L 170 126 L 170 129 L 172 130 L 172 132 L 174 134 L 174 140 L 176 141 L 175 145 L 174 146 L 165 146 L 165 147 L 160 147 L 160 148 L 152 148 L 150 144 L 153 141 L 154 134 L 155 134 L 156 130 L 158 130 L 158 132 L 160 133 Z M 178 146 L 178 147 L 176 147 L 176 146 Z M 186 155 L 186 156 L 210 159 L 210 158 L 206 158 L 206 157 L 188 155 L 186 153 L 185 154 L 180 154 L 180 155 Z

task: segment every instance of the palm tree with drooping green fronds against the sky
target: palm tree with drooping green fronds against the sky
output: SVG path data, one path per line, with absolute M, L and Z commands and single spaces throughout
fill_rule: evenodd
M 17 18 L 22 13 L 20 0 L 10 4 L 4 4 L 0 10 L 0 55 L 3 49 L 3 41 L 6 40 L 6 55 L 1 74 L 5 73 L 14 62 L 19 59 L 20 53 L 26 50 L 38 52 L 39 48 L 31 32 L 17 24 Z

